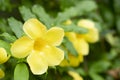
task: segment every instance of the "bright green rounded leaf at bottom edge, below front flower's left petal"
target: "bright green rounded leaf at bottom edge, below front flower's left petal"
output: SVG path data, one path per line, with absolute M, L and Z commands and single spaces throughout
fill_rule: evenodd
M 16 65 L 14 80 L 29 80 L 29 71 L 25 63 L 19 63 Z

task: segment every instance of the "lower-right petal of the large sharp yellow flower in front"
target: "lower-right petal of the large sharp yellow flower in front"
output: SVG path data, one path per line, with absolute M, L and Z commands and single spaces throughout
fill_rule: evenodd
M 49 66 L 59 65 L 64 59 L 64 52 L 56 47 L 46 46 L 42 52 Z

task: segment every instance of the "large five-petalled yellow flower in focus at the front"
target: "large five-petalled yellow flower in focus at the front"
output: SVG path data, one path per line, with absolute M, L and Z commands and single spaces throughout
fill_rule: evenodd
M 47 30 L 37 19 L 29 19 L 24 23 L 23 30 L 27 36 L 12 44 L 11 52 L 14 57 L 27 57 L 27 63 L 36 75 L 45 73 L 48 66 L 60 64 L 64 59 L 64 52 L 56 46 L 63 40 L 63 29 L 52 27 Z

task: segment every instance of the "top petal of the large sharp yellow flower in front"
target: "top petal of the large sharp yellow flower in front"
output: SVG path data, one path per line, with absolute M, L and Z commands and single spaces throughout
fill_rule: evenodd
M 37 19 L 29 19 L 24 23 L 23 30 L 29 37 L 36 39 L 46 32 L 46 27 Z

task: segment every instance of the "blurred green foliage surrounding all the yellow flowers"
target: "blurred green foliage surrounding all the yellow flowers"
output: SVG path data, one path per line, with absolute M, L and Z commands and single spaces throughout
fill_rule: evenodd
M 25 59 L 11 57 L 0 64 L 6 74 L 1 80 L 72 80 L 69 70 L 84 80 L 120 80 L 120 0 L 0 0 L 0 47 L 11 54 L 10 46 L 25 35 L 22 26 L 30 18 L 37 18 L 48 29 L 58 26 L 77 34 L 88 32 L 78 27 L 77 21 L 89 19 L 95 22 L 100 39 L 89 44 L 89 55 L 79 66 L 49 67 L 42 75 L 34 75 Z M 64 25 L 66 20 L 73 23 Z M 64 50 L 68 61 L 69 52 L 78 56 L 67 37 L 58 48 Z

